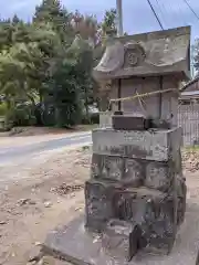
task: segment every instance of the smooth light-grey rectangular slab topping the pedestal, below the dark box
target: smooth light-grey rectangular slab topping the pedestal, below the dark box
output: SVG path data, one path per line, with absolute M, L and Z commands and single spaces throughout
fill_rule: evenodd
M 107 156 L 168 161 L 181 147 L 181 128 L 169 130 L 93 130 L 93 152 Z

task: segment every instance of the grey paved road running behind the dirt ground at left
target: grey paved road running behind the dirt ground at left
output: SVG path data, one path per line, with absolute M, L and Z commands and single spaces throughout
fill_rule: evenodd
M 84 145 L 92 142 L 91 132 L 72 134 L 70 136 L 63 136 L 61 139 L 51 139 L 41 142 L 33 142 L 25 146 L 18 147 L 4 147 L 0 149 L 0 163 L 7 163 L 9 161 L 29 158 L 44 151 L 52 151 L 55 149 L 71 147 L 75 145 Z

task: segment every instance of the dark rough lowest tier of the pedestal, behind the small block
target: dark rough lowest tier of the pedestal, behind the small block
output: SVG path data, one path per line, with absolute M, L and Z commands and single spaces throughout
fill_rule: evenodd
M 140 225 L 150 247 L 170 251 L 177 232 L 177 206 L 181 205 L 172 192 L 129 189 L 107 181 L 88 181 L 85 192 L 86 226 L 90 230 L 105 231 L 111 219 L 133 222 Z M 181 208 L 179 220 L 182 212 Z

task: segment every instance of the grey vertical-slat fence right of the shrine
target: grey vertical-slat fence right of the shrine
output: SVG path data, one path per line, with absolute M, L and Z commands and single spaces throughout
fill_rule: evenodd
M 178 107 L 178 125 L 182 128 L 184 146 L 199 145 L 199 104 Z

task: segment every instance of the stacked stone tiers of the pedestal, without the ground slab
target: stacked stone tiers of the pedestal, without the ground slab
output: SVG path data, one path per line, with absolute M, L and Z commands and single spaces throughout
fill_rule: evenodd
M 86 227 L 103 233 L 107 242 L 108 231 L 113 236 L 113 231 L 125 231 L 125 223 L 128 231 L 139 225 L 143 246 L 169 252 L 186 211 L 180 146 L 180 128 L 94 130 L 91 179 L 85 183 Z M 122 222 L 119 230 L 115 220 Z M 126 236 L 130 245 L 132 234 Z

